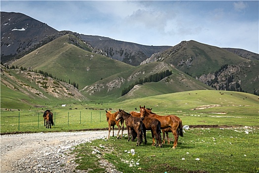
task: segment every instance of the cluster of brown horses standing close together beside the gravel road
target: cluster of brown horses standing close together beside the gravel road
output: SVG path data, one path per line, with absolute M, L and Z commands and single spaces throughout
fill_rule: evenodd
M 165 143 L 165 133 L 167 135 L 167 143 L 170 144 L 168 132 L 171 131 L 175 138 L 173 148 L 176 148 L 179 135 L 182 137 L 184 136 L 182 120 L 175 115 L 160 116 L 153 113 L 151 110 L 152 109 L 148 109 L 145 106 L 141 107 L 140 105 L 140 112 L 132 111 L 127 113 L 120 109 L 115 113 L 106 111 L 106 118 L 109 124 L 109 133 L 107 138 L 110 138 L 111 127 L 113 131 L 112 136 L 114 136 L 114 126 L 116 125 L 118 127 L 117 138 L 121 139 L 125 122 L 128 130 L 128 141 L 130 140 L 130 136 L 132 141 L 137 137 L 137 146 L 143 143 L 143 135 L 145 139 L 144 143 L 147 144 L 147 130 L 151 130 L 153 140 L 152 146 L 155 145 L 156 147 L 162 147 L 162 144 Z M 120 130 L 121 135 L 119 136 Z M 163 133 L 163 142 L 161 139 L 161 131 Z

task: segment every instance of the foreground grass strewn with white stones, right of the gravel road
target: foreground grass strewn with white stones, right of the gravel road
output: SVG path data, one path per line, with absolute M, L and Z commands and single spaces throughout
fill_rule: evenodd
M 169 134 L 172 137 L 172 134 Z M 177 149 L 164 144 L 162 148 L 148 144 L 136 146 L 127 137 L 99 139 L 77 146 L 74 153 L 79 166 L 89 173 L 105 173 L 96 164 L 100 159 L 112 163 L 123 173 L 258 173 L 259 130 L 255 128 L 195 128 L 185 130 Z M 135 154 L 131 154 L 131 150 Z M 100 153 L 93 153 L 93 151 Z M 98 157 L 97 157 L 98 156 Z

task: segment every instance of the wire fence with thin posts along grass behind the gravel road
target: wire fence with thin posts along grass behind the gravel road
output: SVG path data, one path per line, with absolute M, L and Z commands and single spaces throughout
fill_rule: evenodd
M 2 132 L 31 131 L 44 128 L 43 112 L 1 111 L 0 127 Z M 105 111 L 53 112 L 53 128 L 91 129 L 106 128 Z

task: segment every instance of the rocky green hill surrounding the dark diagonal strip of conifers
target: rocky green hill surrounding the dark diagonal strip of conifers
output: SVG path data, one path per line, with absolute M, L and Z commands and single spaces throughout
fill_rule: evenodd
M 144 79 L 152 74 L 170 70 L 172 75 L 159 82 L 144 83 L 137 85 L 129 93 L 121 97 L 124 88 Z M 152 62 L 130 68 L 121 73 L 112 75 L 106 79 L 98 81 L 91 86 L 81 90 L 81 93 L 90 99 L 116 99 L 125 100 L 129 98 L 139 98 L 151 95 L 159 95 L 186 90 L 213 89 L 185 73 L 175 69 L 170 64 L 164 62 Z

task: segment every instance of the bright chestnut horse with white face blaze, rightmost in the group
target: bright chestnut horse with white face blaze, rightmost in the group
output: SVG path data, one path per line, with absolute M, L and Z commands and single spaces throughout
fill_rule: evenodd
M 144 117 L 153 117 L 159 120 L 161 122 L 161 129 L 171 128 L 175 138 L 173 148 L 177 147 L 179 135 L 184 137 L 182 120 L 179 117 L 175 115 L 160 116 L 152 113 L 150 110 L 146 109 L 145 106 L 140 106 L 140 114 L 142 119 L 144 119 Z

